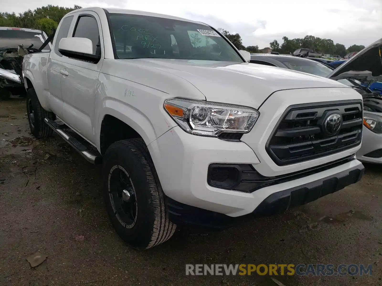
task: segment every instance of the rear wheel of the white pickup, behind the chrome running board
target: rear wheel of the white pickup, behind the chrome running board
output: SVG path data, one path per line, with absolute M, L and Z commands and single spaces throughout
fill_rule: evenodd
M 29 128 L 34 137 L 45 138 L 53 134 L 53 129 L 45 123 L 44 118 L 55 120 L 55 115 L 42 108 L 34 88 L 29 88 L 26 94 L 26 111 Z

